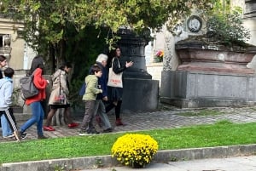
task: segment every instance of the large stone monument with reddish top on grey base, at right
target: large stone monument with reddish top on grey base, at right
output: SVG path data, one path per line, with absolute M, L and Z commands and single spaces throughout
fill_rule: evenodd
M 245 4 L 245 20 L 255 32 L 252 27 L 255 26 L 256 2 L 246 0 Z M 255 37 L 255 33 L 252 36 Z M 237 58 L 234 51 L 192 42 L 176 43 L 181 62 L 175 71 L 162 72 L 161 102 L 181 108 L 255 104 L 255 69 L 247 68 L 256 54 L 255 47 L 240 50 L 242 53 Z M 209 54 L 201 54 L 201 50 Z

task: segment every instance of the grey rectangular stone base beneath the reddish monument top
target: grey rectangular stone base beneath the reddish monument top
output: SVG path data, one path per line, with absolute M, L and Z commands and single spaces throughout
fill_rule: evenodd
M 160 101 L 181 108 L 241 106 L 256 102 L 256 76 L 163 71 Z

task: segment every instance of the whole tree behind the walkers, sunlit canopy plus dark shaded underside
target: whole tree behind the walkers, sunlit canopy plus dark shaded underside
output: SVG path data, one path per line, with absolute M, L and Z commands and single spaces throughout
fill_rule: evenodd
M 120 26 L 137 33 L 145 28 L 172 29 L 192 7 L 209 7 L 214 0 L 2 0 L 1 11 L 23 22 L 22 36 L 44 54 L 52 74 L 63 61 L 74 64 L 71 94 L 79 91 L 96 56 L 105 53 L 119 37 Z M 14 26 L 14 31 L 18 28 Z M 108 47 L 107 47 L 108 46 Z M 107 48 L 106 48 L 107 47 Z M 78 99 L 71 97 L 73 104 Z M 73 106 L 74 106 L 73 105 Z

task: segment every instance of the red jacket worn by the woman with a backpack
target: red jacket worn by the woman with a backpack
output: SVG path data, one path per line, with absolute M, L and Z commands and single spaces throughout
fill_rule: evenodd
M 37 68 L 34 71 L 33 83 L 38 88 L 39 93 L 37 95 L 33 96 L 32 98 L 26 99 L 26 105 L 30 105 L 30 104 L 32 104 L 32 102 L 35 102 L 35 101 L 45 100 L 45 98 L 46 98 L 45 88 L 48 85 L 48 82 L 42 76 L 41 68 Z

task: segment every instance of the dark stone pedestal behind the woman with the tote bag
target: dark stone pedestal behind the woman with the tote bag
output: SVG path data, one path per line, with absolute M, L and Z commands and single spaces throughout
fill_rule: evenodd
M 158 106 L 159 81 L 152 80 L 146 70 L 145 46 L 150 31 L 137 36 L 129 29 L 119 29 L 118 42 L 121 62 L 133 61 L 134 65 L 124 71 L 122 111 L 153 111 Z

